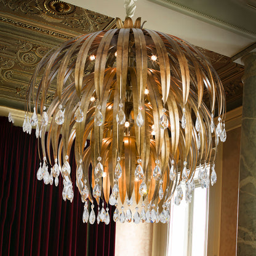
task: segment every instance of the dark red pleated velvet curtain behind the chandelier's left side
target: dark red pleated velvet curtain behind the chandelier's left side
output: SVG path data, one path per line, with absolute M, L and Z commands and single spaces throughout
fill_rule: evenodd
M 73 202 L 65 202 L 62 178 L 57 187 L 44 185 L 36 178 L 38 167 L 34 130 L 25 134 L 0 117 L 0 254 L 114 255 L 115 223 L 82 223 L 83 204 L 76 186 Z M 108 207 L 113 220 L 114 209 Z

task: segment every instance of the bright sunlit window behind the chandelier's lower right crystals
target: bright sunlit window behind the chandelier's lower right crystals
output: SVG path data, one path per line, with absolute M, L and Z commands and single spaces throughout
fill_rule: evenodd
M 208 170 L 209 172 L 209 170 Z M 196 170 L 195 177 L 198 177 Z M 206 256 L 209 188 L 201 188 L 197 178 L 190 203 L 185 201 L 185 184 L 182 184 L 183 200 L 180 206 L 172 199 L 170 210 L 168 256 Z

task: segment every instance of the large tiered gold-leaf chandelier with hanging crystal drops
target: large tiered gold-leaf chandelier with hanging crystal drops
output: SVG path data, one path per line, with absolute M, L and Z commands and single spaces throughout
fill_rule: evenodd
M 191 201 L 196 167 L 202 187 L 217 181 L 225 93 L 207 58 L 188 42 L 143 29 L 140 18 L 116 21 L 117 28 L 71 39 L 42 58 L 23 130 L 36 127 L 40 138 L 38 180 L 57 186 L 61 174 L 63 199 L 71 202 L 76 183 L 84 222 L 110 223 L 110 204 L 114 222 L 167 223 L 173 197 L 177 205 L 183 193 Z M 72 146 L 76 170 L 69 164 Z

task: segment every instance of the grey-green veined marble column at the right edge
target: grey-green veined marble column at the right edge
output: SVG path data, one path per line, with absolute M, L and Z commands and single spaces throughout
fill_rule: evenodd
M 256 255 L 256 52 L 242 57 L 241 153 L 238 209 L 238 256 Z M 232 175 L 232 170 L 230 170 Z

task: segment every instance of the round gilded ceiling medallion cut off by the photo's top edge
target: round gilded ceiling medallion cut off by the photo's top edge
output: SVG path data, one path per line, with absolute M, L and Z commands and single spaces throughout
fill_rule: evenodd
M 44 7 L 51 14 L 57 15 L 67 15 L 74 12 L 76 9 L 72 4 L 68 4 L 67 2 L 57 1 L 57 0 L 45 0 Z

